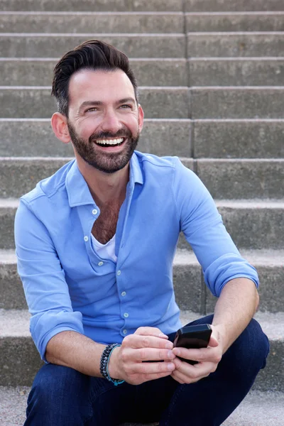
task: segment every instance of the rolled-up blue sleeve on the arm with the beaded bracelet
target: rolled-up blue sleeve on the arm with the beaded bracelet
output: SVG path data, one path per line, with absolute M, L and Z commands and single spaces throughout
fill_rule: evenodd
M 21 200 L 15 219 L 18 274 L 31 313 L 30 331 L 41 358 L 48 341 L 63 331 L 84 334 L 81 312 L 74 312 L 60 259 L 48 229 Z

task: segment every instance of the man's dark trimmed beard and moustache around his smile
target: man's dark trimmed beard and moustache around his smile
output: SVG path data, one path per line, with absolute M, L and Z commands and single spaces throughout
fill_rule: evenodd
M 67 121 L 67 126 L 77 154 L 86 163 L 104 173 L 115 173 L 124 168 L 129 163 L 139 139 L 139 131 L 137 131 L 136 135 L 133 135 L 129 129 L 120 129 L 116 133 L 111 133 L 110 131 L 92 133 L 88 141 L 85 141 L 83 138 L 80 138 L 69 121 Z M 124 150 L 119 153 L 107 153 L 99 151 L 99 149 L 96 151 L 97 146 L 95 141 L 107 138 L 127 138 Z

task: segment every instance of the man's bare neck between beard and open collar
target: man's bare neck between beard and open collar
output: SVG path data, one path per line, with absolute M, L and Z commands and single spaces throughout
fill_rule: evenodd
M 129 163 L 115 173 L 101 172 L 78 158 L 77 165 L 97 206 L 124 202 L 126 185 L 129 182 Z

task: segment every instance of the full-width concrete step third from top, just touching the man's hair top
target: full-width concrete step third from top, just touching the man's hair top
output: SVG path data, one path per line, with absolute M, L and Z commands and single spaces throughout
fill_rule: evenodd
M 89 39 L 111 43 L 132 58 L 182 58 L 185 55 L 183 33 L 1 33 L 0 49 L 5 58 L 54 58 Z M 283 57 L 284 32 L 187 33 L 187 55 Z

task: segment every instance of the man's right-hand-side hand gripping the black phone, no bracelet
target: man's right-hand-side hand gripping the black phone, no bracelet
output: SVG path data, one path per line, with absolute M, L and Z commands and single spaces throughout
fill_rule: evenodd
M 202 349 L 174 348 L 173 353 L 185 359 L 198 361 L 198 364 L 187 364 L 178 358 L 173 360 L 175 370 L 172 377 L 178 383 L 194 383 L 213 373 L 222 359 L 222 339 L 217 327 L 212 327 L 209 346 Z

